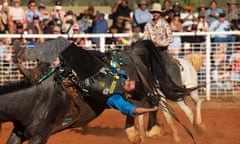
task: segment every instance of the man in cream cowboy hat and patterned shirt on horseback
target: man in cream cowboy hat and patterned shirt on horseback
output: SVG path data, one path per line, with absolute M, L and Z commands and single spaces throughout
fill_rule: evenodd
M 162 7 L 160 3 L 153 3 L 152 20 L 144 27 L 144 39 L 151 40 L 157 51 L 166 59 L 166 69 L 169 76 L 174 80 L 175 84 L 181 86 L 181 76 L 178 64 L 172 55 L 168 52 L 168 46 L 173 42 L 174 37 L 168 22 L 161 16 Z

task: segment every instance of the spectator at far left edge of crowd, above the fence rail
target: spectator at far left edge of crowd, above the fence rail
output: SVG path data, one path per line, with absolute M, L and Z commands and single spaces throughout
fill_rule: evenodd
M 9 11 L 10 8 L 8 6 L 8 2 L 3 2 L 2 9 L 0 11 L 0 33 L 9 32 L 9 27 L 11 26 L 9 23 Z

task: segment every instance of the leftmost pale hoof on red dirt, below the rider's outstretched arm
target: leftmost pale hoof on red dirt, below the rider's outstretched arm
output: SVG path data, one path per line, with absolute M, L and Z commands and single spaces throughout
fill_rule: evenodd
M 140 137 L 139 132 L 136 130 L 134 126 L 126 128 L 125 133 L 127 134 L 128 140 L 132 143 L 142 143 L 142 138 Z

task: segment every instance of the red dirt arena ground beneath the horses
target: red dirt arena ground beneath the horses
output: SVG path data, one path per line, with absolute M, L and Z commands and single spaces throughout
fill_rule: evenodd
M 197 144 L 240 144 L 240 101 L 235 99 L 205 101 L 202 105 L 203 122 L 207 130 L 197 134 L 182 111 L 171 103 L 179 119 L 186 124 L 195 136 Z M 192 103 L 189 104 L 192 107 Z M 164 125 L 165 135 L 162 138 L 145 138 L 144 144 L 173 144 L 171 130 L 161 112 L 159 121 Z M 116 110 L 105 110 L 102 115 L 83 128 L 65 130 L 50 137 L 47 144 L 129 144 L 124 132 L 125 117 Z M 180 133 L 179 144 L 193 144 L 192 139 L 176 123 Z M 0 144 L 5 144 L 12 129 L 11 123 L 3 124 L 0 133 Z M 25 143 L 26 144 L 26 143 Z

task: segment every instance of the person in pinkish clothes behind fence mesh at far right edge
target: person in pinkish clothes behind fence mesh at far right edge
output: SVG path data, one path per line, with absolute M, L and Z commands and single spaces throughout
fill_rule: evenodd
M 236 46 L 229 62 L 231 65 L 232 87 L 240 90 L 240 45 Z

